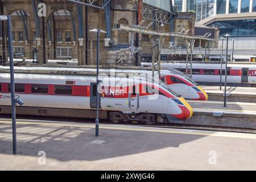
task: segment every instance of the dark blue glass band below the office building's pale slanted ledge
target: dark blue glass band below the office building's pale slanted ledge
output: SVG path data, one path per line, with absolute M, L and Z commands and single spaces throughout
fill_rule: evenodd
M 218 21 L 209 26 L 219 27 L 220 36 L 256 36 L 256 19 Z

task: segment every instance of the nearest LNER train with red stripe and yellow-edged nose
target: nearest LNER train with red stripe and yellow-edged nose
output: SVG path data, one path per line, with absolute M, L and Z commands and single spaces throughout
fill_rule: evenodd
M 187 101 L 160 80 L 150 83 L 139 77 L 100 79 L 100 118 L 152 124 L 168 122 L 170 116 L 188 119 L 193 114 Z M 95 72 L 16 70 L 15 83 L 16 97 L 24 101 L 23 106 L 17 107 L 17 114 L 79 118 L 95 115 Z M 10 91 L 9 69 L 0 69 L 0 113 L 11 112 Z

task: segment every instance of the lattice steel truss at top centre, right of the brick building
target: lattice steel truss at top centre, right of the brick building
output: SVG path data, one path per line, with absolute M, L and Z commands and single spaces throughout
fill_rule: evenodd
M 144 19 L 170 24 L 172 15 L 175 15 L 175 13 L 143 3 L 142 18 Z

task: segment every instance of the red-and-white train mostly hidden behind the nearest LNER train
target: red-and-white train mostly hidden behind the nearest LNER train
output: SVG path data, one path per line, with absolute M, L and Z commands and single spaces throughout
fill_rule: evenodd
M 7 67 L 0 67 L 6 68 Z M 47 65 L 40 65 L 35 67 L 35 65 L 27 65 L 27 67 L 15 67 L 18 69 L 31 69 L 31 70 L 40 70 L 40 69 L 54 69 L 58 71 L 96 71 L 95 66 L 83 66 L 83 67 L 48 67 Z M 147 74 L 151 75 L 152 71 L 150 68 L 142 67 L 101 67 L 100 72 L 116 72 L 116 73 L 138 73 L 138 74 Z M 191 78 L 184 75 L 184 73 L 179 72 L 175 69 L 162 70 L 160 72 L 161 80 L 168 85 L 168 87 L 175 92 L 179 93 L 182 97 L 189 100 L 208 100 L 208 94 L 202 89 L 195 81 Z M 155 72 L 155 76 L 158 77 L 158 73 Z

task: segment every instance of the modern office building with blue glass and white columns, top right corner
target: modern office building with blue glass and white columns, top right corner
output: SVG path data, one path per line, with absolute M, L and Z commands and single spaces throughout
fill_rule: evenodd
M 177 11 L 194 11 L 197 22 L 218 26 L 220 36 L 256 36 L 256 0 L 174 0 L 176 5 Z

